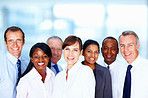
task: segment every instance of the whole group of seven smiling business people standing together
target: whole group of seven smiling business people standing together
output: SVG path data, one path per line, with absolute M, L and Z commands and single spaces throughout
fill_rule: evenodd
M 30 49 L 30 61 L 21 56 L 25 34 L 12 26 L 4 33 L 6 54 L 0 64 L 2 98 L 148 98 L 148 60 L 139 55 L 140 43 L 133 31 L 124 31 L 118 41 L 106 37 L 99 43 L 70 35 L 58 36 Z M 117 60 L 120 52 L 127 64 Z M 58 64 L 63 50 L 67 63 Z M 104 60 L 97 63 L 99 53 Z M 84 60 L 80 61 L 79 56 Z

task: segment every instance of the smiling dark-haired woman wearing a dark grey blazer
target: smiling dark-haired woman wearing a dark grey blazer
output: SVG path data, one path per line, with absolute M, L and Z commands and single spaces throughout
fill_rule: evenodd
M 89 66 L 95 75 L 95 98 L 112 98 L 111 75 L 107 68 L 96 63 L 99 56 L 99 43 L 87 40 L 83 44 L 84 61 L 82 64 Z

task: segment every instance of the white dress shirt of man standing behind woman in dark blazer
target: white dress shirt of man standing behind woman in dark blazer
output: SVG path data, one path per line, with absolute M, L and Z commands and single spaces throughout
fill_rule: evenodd
M 119 96 L 122 91 L 118 89 L 119 82 L 120 82 L 119 79 L 121 78 L 124 79 L 123 75 L 125 74 L 125 71 L 126 71 L 126 65 L 117 59 L 110 65 L 106 64 L 104 60 L 100 61 L 99 64 L 104 67 L 109 66 L 109 70 L 112 78 L 113 98 L 120 98 Z

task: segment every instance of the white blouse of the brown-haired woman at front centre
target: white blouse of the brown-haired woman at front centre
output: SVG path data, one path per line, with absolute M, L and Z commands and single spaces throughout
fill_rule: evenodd
M 95 77 L 90 67 L 77 62 L 69 71 L 57 74 L 52 98 L 94 98 Z

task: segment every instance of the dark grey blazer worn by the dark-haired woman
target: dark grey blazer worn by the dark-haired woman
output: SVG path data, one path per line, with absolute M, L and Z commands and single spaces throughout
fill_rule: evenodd
M 96 87 L 95 87 L 95 98 L 112 98 L 112 83 L 110 71 L 95 63 L 95 69 L 93 70 Z

